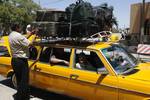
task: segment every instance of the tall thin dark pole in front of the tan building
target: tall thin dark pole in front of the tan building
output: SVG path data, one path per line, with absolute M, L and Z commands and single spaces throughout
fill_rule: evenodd
M 141 35 L 140 35 L 140 43 L 143 43 L 144 36 L 144 22 L 145 22 L 145 0 L 142 3 L 142 18 L 141 18 Z

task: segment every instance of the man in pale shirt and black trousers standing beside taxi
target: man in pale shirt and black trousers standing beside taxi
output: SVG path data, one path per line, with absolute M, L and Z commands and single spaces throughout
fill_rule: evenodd
M 11 26 L 12 32 L 9 34 L 9 44 L 12 54 L 11 65 L 17 80 L 17 93 L 13 95 L 14 100 L 29 100 L 29 68 L 28 68 L 28 47 L 33 43 L 35 38 L 30 42 L 29 38 L 22 35 L 19 24 Z M 35 32 L 35 31 L 34 31 Z

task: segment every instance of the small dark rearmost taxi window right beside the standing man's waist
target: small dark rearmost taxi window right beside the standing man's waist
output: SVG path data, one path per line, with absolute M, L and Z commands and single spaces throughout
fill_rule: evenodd
M 29 59 L 36 60 L 37 55 L 38 55 L 38 51 L 37 51 L 36 47 L 34 47 L 34 46 L 29 47 L 29 53 L 30 53 Z

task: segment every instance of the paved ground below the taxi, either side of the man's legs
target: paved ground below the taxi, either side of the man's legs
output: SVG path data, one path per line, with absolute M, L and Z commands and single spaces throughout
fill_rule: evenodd
M 16 90 L 12 88 L 10 83 L 10 79 L 6 79 L 0 75 L 0 100 L 13 100 L 12 95 Z M 30 87 L 30 91 L 31 95 L 36 98 L 34 100 L 78 100 L 76 98 L 55 94 L 34 87 Z

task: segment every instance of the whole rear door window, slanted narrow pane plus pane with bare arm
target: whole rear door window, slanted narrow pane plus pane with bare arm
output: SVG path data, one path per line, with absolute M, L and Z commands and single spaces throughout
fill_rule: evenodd
M 49 63 L 52 66 L 60 65 L 69 67 L 70 54 L 71 49 L 69 48 L 44 47 L 41 52 L 39 61 L 43 63 Z

